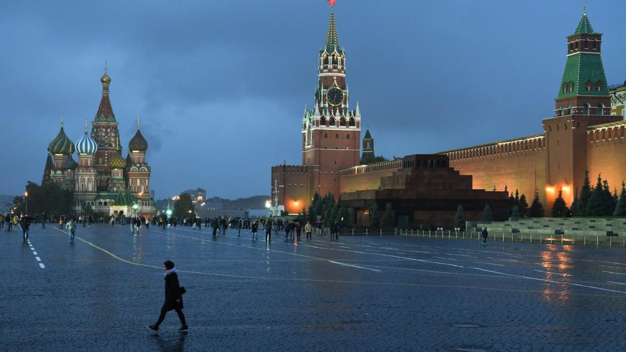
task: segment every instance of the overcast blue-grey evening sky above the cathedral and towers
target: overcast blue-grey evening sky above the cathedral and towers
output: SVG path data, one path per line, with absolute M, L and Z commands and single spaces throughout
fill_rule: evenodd
M 141 115 L 157 197 L 202 186 L 269 193 L 272 164 L 300 162 L 326 1 L 3 1 L 0 119 L 11 173 L 39 181 L 59 114 L 76 141 L 100 103 L 108 61 L 125 148 Z M 620 1 L 590 3 L 609 83 L 626 78 Z M 541 133 L 565 64 L 571 1 L 340 0 L 351 107 L 377 154 L 429 153 Z M 25 161 L 24 161 L 25 159 Z

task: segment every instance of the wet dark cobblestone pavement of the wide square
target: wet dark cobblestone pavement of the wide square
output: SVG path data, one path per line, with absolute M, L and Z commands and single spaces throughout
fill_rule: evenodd
M 0 350 L 623 351 L 625 248 L 229 229 L 0 232 Z M 39 259 L 39 260 L 38 260 Z M 163 261 L 190 331 L 158 333 Z

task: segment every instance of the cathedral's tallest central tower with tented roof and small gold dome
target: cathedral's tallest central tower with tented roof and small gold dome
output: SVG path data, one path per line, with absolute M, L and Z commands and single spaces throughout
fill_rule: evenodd
M 117 143 L 120 139 L 118 123 L 115 121 L 115 114 L 113 114 L 109 99 L 111 78 L 106 73 L 106 68 L 100 82 L 102 83 L 102 98 L 96 118 L 92 123 L 91 138 L 98 144 L 98 151 L 95 156 L 95 169 L 98 173 L 96 176 L 97 187 L 100 190 L 106 190 L 108 187 L 107 178 L 111 173 L 111 168 L 108 165 L 109 158 L 115 153 L 121 153 L 121 148 Z

